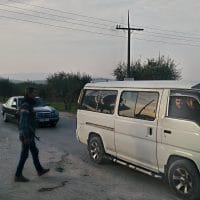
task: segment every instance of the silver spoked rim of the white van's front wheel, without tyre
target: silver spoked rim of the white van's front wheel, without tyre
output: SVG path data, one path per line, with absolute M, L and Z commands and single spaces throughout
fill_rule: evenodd
M 173 174 L 173 183 L 181 194 L 189 194 L 192 191 L 192 180 L 187 170 L 177 168 Z

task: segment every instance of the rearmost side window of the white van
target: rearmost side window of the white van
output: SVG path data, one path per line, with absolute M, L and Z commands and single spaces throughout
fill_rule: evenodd
M 79 109 L 105 114 L 113 114 L 116 98 L 117 91 L 85 90 Z

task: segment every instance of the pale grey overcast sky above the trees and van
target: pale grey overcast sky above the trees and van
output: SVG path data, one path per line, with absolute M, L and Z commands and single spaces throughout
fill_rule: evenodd
M 131 26 L 144 28 L 132 34 L 131 59 L 165 55 L 184 80 L 199 80 L 199 0 L 14 1 L 0 0 L 0 76 L 31 80 L 65 71 L 112 78 L 127 61 L 127 33 L 115 26 L 127 26 L 129 10 Z

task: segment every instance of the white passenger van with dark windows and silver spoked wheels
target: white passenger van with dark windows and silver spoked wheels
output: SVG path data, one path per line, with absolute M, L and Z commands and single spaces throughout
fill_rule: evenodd
M 200 84 L 179 81 L 89 83 L 79 98 L 77 138 L 96 163 L 107 157 L 167 178 L 200 199 Z

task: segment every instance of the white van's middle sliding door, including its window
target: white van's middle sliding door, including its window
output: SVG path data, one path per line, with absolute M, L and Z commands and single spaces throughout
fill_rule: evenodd
M 117 158 L 158 171 L 157 113 L 161 93 L 122 91 L 115 118 Z

